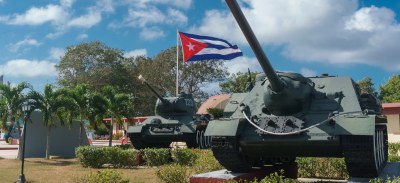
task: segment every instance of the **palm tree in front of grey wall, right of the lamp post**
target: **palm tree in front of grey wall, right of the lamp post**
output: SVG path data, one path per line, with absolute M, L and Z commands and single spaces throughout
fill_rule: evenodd
M 47 126 L 46 159 L 49 159 L 51 129 L 57 126 L 57 120 L 60 121 L 60 125 L 65 124 L 65 112 L 71 109 L 74 103 L 66 97 L 64 90 L 56 90 L 51 84 L 44 87 L 43 94 L 31 91 L 27 98 L 32 100 L 34 109 L 42 111 L 43 123 Z

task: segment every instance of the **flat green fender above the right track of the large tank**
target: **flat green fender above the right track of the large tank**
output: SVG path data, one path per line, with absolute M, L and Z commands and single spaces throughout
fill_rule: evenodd
M 375 124 L 381 123 L 376 115 L 348 115 L 335 118 L 336 135 L 375 134 Z M 384 122 L 384 121 L 383 121 Z

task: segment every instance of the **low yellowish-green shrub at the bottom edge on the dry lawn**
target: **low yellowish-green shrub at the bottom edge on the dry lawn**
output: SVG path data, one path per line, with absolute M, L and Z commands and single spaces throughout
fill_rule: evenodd
M 91 172 L 89 175 L 81 178 L 79 182 L 85 183 L 128 183 L 129 180 L 123 180 L 121 174 L 115 170 Z

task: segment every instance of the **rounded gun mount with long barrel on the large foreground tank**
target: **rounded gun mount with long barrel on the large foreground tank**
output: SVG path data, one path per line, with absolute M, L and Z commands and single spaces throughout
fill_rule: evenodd
M 290 115 L 301 112 L 304 107 L 309 106 L 312 82 L 301 74 L 276 73 L 237 2 L 235 0 L 226 2 L 267 78 L 263 84 L 266 91 L 263 110 L 274 115 Z

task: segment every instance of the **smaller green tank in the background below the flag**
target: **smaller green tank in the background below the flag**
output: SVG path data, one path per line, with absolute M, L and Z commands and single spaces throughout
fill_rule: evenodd
M 190 148 L 210 146 L 210 139 L 204 138 L 210 116 L 195 114 L 191 94 L 181 92 L 176 97 L 162 97 L 142 76 L 139 79 L 158 99 L 154 116 L 128 127 L 127 134 L 135 149 L 168 148 L 171 142 L 186 142 Z

